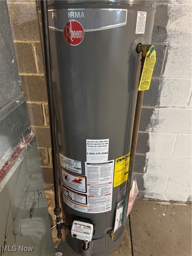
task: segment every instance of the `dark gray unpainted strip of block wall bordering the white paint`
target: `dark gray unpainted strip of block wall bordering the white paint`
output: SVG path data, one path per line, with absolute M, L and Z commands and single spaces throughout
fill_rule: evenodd
M 167 57 L 167 23 L 168 23 L 168 5 L 157 4 L 153 34 L 151 42 L 156 46 L 156 64 L 154 67 L 150 89 L 144 92 L 143 107 L 141 112 L 139 133 L 137 139 L 137 148 L 134 163 L 134 172 L 137 173 L 137 185 L 140 191 L 138 197 L 142 197 L 146 190 L 144 184 L 144 173 L 147 171 L 148 157 L 146 153 L 150 151 L 149 133 L 154 127 L 154 119 L 158 111 L 155 107 L 160 105 L 162 91 L 162 77 Z

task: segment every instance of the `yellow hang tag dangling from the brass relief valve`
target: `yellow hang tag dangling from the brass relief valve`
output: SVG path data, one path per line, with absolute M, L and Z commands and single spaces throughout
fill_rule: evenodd
M 156 51 L 154 51 L 150 57 L 149 57 L 149 54 L 150 54 L 150 50 L 147 52 L 145 57 L 143 72 L 141 75 L 138 91 L 149 90 L 151 77 L 152 77 L 153 69 L 156 62 Z

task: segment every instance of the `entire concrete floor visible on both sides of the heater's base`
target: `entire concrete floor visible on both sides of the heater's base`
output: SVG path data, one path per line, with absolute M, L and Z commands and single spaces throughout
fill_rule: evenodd
M 53 193 L 46 193 L 46 198 L 53 226 Z M 68 246 L 65 231 L 62 232 L 61 241 L 56 228 L 52 229 L 55 252 L 79 256 Z M 130 214 L 130 225 L 127 221 L 125 237 L 110 256 L 191 256 L 191 233 L 191 204 L 137 199 Z

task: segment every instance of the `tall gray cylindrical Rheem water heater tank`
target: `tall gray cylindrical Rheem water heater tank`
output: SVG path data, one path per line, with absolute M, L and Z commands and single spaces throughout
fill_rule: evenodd
M 124 237 L 122 225 L 114 240 L 107 234 L 127 185 L 115 174 L 116 159 L 131 150 L 136 46 L 151 43 L 154 15 L 154 1 L 48 1 L 62 211 L 68 225 L 79 219 L 95 225 L 89 252 L 67 234 L 82 255 L 107 255 Z

